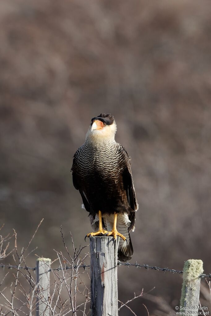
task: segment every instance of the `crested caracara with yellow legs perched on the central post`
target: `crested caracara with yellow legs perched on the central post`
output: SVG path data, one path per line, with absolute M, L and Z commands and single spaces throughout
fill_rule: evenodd
M 110 114 L 91 119 L 85 143 L 73 156 L 72 180 L 79 190 L 82 208 L 89 212 L 90 236 L 120 237 L 118 258 L 128 261 L 133 255 L 129 231 L 134 231 L 138 210 L 130 158 L 115 142 L 116 122 Z

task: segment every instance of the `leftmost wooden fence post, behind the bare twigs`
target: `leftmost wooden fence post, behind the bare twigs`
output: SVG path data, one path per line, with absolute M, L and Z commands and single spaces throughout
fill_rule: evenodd
M 50 297 L 50 266 L 51 259 L 37 259 L 37 306 L 36 316 L 49 316 L 50 309 L 47 305 Z

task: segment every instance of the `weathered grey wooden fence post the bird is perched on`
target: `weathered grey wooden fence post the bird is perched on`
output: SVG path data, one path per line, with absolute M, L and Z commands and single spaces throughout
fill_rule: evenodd
M 119 237 L 90 237 L 91 316 L 118 316 L 118 245 Z

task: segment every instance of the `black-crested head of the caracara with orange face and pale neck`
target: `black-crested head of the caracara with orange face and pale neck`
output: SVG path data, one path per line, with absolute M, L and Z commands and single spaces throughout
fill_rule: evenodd
M 116 133 L 116 122 L 111 114 L 101 113 L 91 119 L 86 138 L 92 141 L 101 141 L 102 139 L 114 139 Z

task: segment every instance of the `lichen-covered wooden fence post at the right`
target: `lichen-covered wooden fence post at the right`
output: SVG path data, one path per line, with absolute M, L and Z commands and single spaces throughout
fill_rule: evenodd
M 190 312 L 197 312 L 199 305 L 200 294 L 200 274 L 203 273 L 202 260 L 189 259 L 185 261 L 183 268 L 183 286 L 182 295 L 180 300 L 181 307 L 187 307 L 186 309 L 180 309 L 184 315 Z

